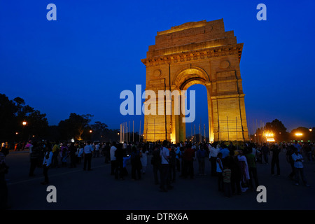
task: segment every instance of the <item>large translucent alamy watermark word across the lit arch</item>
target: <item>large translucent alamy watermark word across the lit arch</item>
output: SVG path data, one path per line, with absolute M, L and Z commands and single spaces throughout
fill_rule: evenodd
M 195 120 L 195 90 L 189 91 L 189 107 L 187 91 L 153 90 L 141 91 L 141 85 L 136 85 L 136 115 L 181 115 L 186 116 L 183 123 L 192 123 Z M 120 92 L 120 99 L 125 99 L 120 104 L 120 113 L 122 115 L 134 115 L 134 93 L 131 90 Z M 142 99 L 146 99 L 141 106 Z M 172 105 L 174 102 L 174 107 Z M 172 113 L 172 109 L 174 113 Z M 158 113 L 157 113 L 158 111 Z

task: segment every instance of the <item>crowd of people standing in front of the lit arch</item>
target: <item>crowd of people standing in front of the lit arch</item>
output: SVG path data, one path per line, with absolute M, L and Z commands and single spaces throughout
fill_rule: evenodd
M 218 191 L 224 193 L 225 197 L 232 197 L 259 186 L 256 165 L 257 163 L 268 165 L 270 156 L 271 175 L 280 175 L 280 153 L 286 155 L 286 160 L 292 168 L 288 177 L 295 181 L 295 185 L 300 184 L 301 178 L 304 186 L 309 186 L 304 175 L 303 158 L 314 161 L 315 144 L 302 144 L 297 141 L 281 144 L 264 143 L 262 146 L 253 143 L 233 145 L 232 142 L 210 144 L 191 141 L 171 144 L 166 140 L 146 143 L 29 141 L 22 144 L 20 149 L 29 151 L 29 176 L 34 176 L 36 167 L 43 169 L 44 180 L 41 183 L 44 185 L 49 183 L 50 168 L 75 168 L 83 160 L 83 170 L 91 171 L 92 158 L 102 157 L 105 164 L 110 164 L 111 175 L 120 180 L 124 180 L 129 174 L 127 165 L 131 167 L 131 179 L 141 180 L 146 174 L 148 162 L 151 163 L 152 179 L 162 192 L 171 190 L 178 177 L 195 179 L 196 160 L 197 174 L 206 175 L 205 162 L 209 159 L 210 174 L 218 179 Z M 4 175 L 8 172 L 5 162 L 8 153 L 7 144 L 1 144 L 1 189 L 6 188 Z M 1 192 L 5 191 L 3 189 Z

